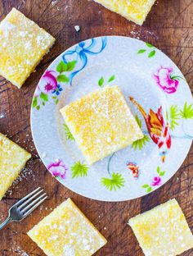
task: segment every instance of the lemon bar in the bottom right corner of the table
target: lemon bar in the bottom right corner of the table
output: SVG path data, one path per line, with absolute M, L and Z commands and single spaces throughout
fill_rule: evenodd
M 129 220 L 146 256 L 175 256 L 193 247 L 193 235 L 176 199 Z

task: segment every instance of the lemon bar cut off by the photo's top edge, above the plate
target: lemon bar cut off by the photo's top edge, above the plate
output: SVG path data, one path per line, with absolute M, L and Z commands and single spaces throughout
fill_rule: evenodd
M 129 21 L 142 25 L 155 0 L 94 0 Z

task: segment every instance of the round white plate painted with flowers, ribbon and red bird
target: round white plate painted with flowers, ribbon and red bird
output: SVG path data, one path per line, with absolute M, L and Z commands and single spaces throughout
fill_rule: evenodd
M 120 86 L 145 136 L 89 167 L 59 110 L 107 84 Z M 135 199 L 164 185 L 186 158 L 193 138 L 191 90 L 150 43 L 88 39 L 61 53 L 43 74 L 31 127 L 47 170 L 67 188 L 103 201 Z

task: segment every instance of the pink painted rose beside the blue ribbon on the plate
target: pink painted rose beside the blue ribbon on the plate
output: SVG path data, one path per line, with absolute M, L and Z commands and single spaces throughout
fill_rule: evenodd
M 38 88 L 43 94 L 51 94 L 56 90 L 57 80 L 55 75 L 55 71 L 46 71 L 43 75 L 43 79 L 38 84 Z

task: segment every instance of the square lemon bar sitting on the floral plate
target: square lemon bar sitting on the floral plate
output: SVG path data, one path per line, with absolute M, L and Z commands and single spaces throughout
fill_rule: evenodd
M 66 125 L 92 164 L 143 137 L 118 86 L 105 86 L 61 108 Z

